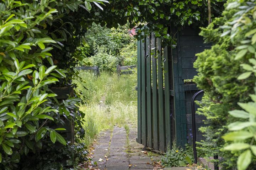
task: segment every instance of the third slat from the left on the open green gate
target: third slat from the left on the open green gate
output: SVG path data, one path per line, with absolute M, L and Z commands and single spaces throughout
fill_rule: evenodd
M 146 36 L 146 113 L 147 113 L 147 146 L 152 148 L 152 112 L 151 112 L 151 54 L 150 36 Z

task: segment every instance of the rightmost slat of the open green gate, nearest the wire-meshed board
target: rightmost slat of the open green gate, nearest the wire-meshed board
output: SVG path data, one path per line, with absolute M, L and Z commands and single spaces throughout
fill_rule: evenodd
M 169 47 L 164 48 L 164 80 L 165 80 L 165 142 L 167 147 L 171 147 L 171 101 L 170 101 L 170 72 L 169 72 L 169 62 L 171 58 L 171 52 Z

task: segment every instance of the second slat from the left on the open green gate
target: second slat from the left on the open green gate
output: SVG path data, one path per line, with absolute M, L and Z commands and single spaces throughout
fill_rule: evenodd
M 142 123 L 142 145 L 146 146 L 146 61 L 145 61 L 145 38 L 142 40 L 142 49 L 141 49 L 141 79 L 142 79 L 142 84 L 141 84 L 141 90 L 142 90 L 142 102 L 141 102 L 141 111 L 142 111 L 142 117 L 141 117 L 141 123 Z

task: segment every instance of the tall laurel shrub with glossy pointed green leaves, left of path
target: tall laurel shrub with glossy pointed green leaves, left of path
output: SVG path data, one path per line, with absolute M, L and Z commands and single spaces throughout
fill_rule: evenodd
M 71 66 L 70 46 L 66 46 L 69 52 L 65 56 L 64 50 L 56 49 L 62 49 L 63 40 L 76 44 L 74 36 L 66 34 L 80 33 L 81 18 L 74 25 L 64 20 L 81 9 L 85 12 L 82 4 L 77 0 L 0 2 L 0 169 L 22 169 L 20 159 L 41 154 L 49 142 L 66 145 L 60 134 L 64 129 L 53 128 L 62 126 L 63 119 L 77 120 L 79 125 L 81 114 L 76 105 L 81 100 L 58 102 L 48 85 L 70 79 L 67 70 L 54 66 Z M 47 155 L 44 159 L 50 161 Z

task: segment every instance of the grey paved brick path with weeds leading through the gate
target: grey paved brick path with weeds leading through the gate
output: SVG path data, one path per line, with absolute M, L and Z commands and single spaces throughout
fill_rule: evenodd
M 124 128 L 125 127 L 125 128 Z M 92 146 L 92 161 L 100 170 L 156 170 L 159 155 L 142 151 L 136 142 L 137 131 L 132 125 L 101 132 Z

